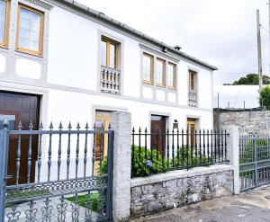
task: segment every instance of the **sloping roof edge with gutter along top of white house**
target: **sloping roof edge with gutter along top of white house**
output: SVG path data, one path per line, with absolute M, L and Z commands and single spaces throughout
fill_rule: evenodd
M 72 5 L 77 10 L 84 11 L 85 13 L 89 13 L 91 15 L 94 15 L 95 17 L 97 17 L 97 18 L 99 18 L 99 19 L 101 19 L 101 20 L 103 20 L 105 22 L 109 22 L 112 25 L 117 26 L 117 27 L 121 28 L 124 31 L 129 31 L 133 35 L 136 35 L 136 36 L 139 36 L 140 38 L 151 41 L 151 42 L 159 45 L 160 47 L 164 47 L 166 49 L 169 49 L 170 51 L 174 52 L 176 55 L 178 55 L 178 56 L 180 56 L 182 58 L 187 58 L 188 60 L 192 60 L 193 62 L 202 65 L 202 67 L 208 67 L 211 70 L 218 70 L 217 67 L 214 67 L 214 66 L 212 66 L 212 65 L 210 65 L 210 64 L 208 64 L 206 62 L 203 62 L 202 60 L 200 60 L 198 58 L 193 58 L 192 56 L 187 55 L 183 51 L 175 49 L 174 47 L 169 46 L 169 45 L 167 45 L 166 43 L 164 43 L 162 41 L 156 40 L 156 39 L 154 39 L 154 38 L 140 32 L 140 31 L 137 31 L 137 30 L 131 28 L 130 26 L 128 26 L 128 25 L 126 25 L 124 23 L 118 22 L 118 21 L 112 19 L 111 17 L 105 15 L 104 13 L 97 12 L 97 11 L 85 6 L 84 4 L 79 4 L 76 1 L 72 1 L 72 0 L 58 0 L 58 1 L 61 2 L 61 3 L 64 2 L 66 4 Z

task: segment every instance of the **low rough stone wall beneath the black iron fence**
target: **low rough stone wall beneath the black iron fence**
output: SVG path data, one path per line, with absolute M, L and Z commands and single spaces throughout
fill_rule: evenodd
M 222 164 L 132 179 L 130 216 L 232 195 L 232 169 Z

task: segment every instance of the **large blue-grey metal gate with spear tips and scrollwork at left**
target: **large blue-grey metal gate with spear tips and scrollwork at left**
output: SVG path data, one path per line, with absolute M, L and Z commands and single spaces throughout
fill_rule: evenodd
M 113 131 L 109 128 L 0 130 L 0 221 L 112 220 Z M 95 139 L 102 141 L 97 147 Z M 38 156 L 32 155 L 37 140 Z M 9 163 L 10 143 L 16 143 L 15 163 Z M 23 144 L 24 143 L 24 144 Z M 27 159 L 21 159 L 28 145 Z M 14 147 L 14 146 L 13 146 Z M 35 161 L 37 160 L 37 161 Z M 7 175 L 14 164 L 15 173 Z M 20 171 L 27 169 L 26 178 Z M 34 177 L 32 177 L 34 170 Z

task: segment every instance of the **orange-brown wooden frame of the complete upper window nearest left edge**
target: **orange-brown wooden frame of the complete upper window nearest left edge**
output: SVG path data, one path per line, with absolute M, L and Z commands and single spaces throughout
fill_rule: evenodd
M 31 50 L 31 49 L 24 49 L 22 47 L 19 47 L 19 31 L 20 31 L 20 15 L 21 15 L 21 8 L 24 8 L 28 11 L 31 11 L 32 13 L 38 13 L 40 14 L 40 44 L 39 44 L 39 51 L 35 51 L 35 50 Z M 15 45 L 15 49 L 17 51 L 23 52 L 23 53 L 27 53 L 27 54 L 31 54 L 33 56 L 42 56 L 43 55 L 43 40 L 44 40 L 44 12 L 36 9 L 36 8 L 32 8 L 29 5 L 26 4 L 22 4 L 19 3 L 18 4 L 18 13 L 17 13 L 17 32 L 16 32 L 16 45 Z

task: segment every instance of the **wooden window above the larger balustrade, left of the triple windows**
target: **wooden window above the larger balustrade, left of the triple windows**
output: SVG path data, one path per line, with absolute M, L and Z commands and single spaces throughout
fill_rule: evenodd
M 117 46 L 118 44 L 112 40 L 102 40 L 102 65 L 104 67 L 118 67 Z

